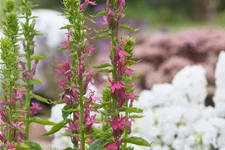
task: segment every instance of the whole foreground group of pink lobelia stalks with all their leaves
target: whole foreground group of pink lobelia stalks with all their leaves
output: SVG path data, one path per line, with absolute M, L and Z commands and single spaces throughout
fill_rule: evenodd
M 62 50 L 69 50 L 70 54 L 57 65 L 56 75 L 63 76 L 58 87 L 63 89 L 63 93 L 59 101 L 53 102 L 32 93 L 34 85 L 41 84 L 35 78 L 35 73 L 38 62 L 45 58 L 33 55 L 34 37 L 40 35 L 35 30 L 35 17 L 32 16 L 34 6 L 28 0 L 22 0 L 20 18 L 23 18 L 23 22 L 19 22 L 13 1 L 6 2 L 4 38 L 0 42 L 4 81 L 1 84 L 4 95 L 0 111 L 2 148 L 41 149 L 37 143 L 29 141 L 31 122 L 52 126 L 44 136 L 64 128 L 63 136 L 69 137 L 72 143 L 66 149 L 132 149 L 128 143 L 149 147 L 150 144 L 143 138 L 130 136 L 133 119 L 140 117 L 132 113 L 141 113 L 142 110 L 133 107 L 136 96 L 131 85 L 133 70 L 130 66 L 135 63 L 132 59 L 134 40 L 130 37 L 120 38 L 118 34 L 119 28 L 135 31 L 120 24 L 125 0 L 108 0 L 106 10 L 96 15 L 107 15 L 103 16 L 103 24 L 107 24 L 108 28 L 97 31 L 93 39 L 111 37 L 111 64 L 93 67 L 88 67 L 85 61 L 95 48 L 88 45 L 90 29 L 85 25 L 85 20 L 92 19 L 85 16 L 84 11 L 88 5 L 96 5 L 96 2 L 64 0 L 63 4 L 68 24 L 62 29 L 68 32 L 67 40 L 60 44 Z M 22 45 L 18 46 L 19 40 Z M 24 53 L 19 53 L 19 48 Z M 91 89 L 92 77 L 96 72 L 108 73 L 110 85 L 103 91 L 102 99 Z M 47 104 L 64 104 L 61 109 L 63 120 L 54 123 L 35 117 L 42 108 L 38 103 L 31 102 L 31 98 Z

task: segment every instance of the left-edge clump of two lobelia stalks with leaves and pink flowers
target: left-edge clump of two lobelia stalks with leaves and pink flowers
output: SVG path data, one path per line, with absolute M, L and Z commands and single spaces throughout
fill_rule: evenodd
M 31 3 L 23 1 L 23 10 L 25 15 L 25 23 L 22 24 L 22 35 L 24 35 L 23 46 L 25 54 L 20 54 L 19 44 L 19 21 L 16 12 L 14 11 L 14 2 L 6 1 L 5 6 L 5 21 L 3 27 L 4 38 L 0 40 L 1 49 L 1 88 L 3 95 L 1 96 L 0 107 L 0 149 L 35 149 L 40 150 L 41 147 L 29 141 L 29 124 L 36 122 L 45 125 L 54 125 L 53 122 L 46 121 L 34 117 L 41 107 L 32 103 L 30 107 L 31 96 L 42 102 L 48 100 L 32 94 L 32 85 L 41 83 L 38 79 L 34 79 L 35 69 L 38 60 L 43 59 L 43 56 L 32 56 L 34 50 L 33 37 L 38 35 L 34 30 L 34 22 L 30 22 Z M 22 17 L 23 18 L 23 17 Z M 23 62 L 23 59 L 27 62 Z M 31 68 L 31 63 L 33 67 Z M 27 66 L 26 66 L 27 65 Z M 27 70 L 26 70 L 27 69 Z M 25 84 L 22 82 L 25 81 Z M 26 94 L 25 94 L 26 93 Z M 23 96 L 26 97 L 24 103 Z

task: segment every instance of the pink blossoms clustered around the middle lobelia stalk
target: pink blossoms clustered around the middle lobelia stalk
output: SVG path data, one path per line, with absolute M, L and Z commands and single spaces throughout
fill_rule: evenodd
M 89 4 L 96 5 L 94 1 L 85 0 L 84 3 L 80 4 L 80 10 L 85 11 Z M 87 27 L 85 26 L 85 28 Z M 93 107 L 93 103 L 97 101 L 97 98 L 95 92 L 88 88 L 92 84 L 91 80 L 94 71 L 88 70 L 85 64 L 86 57 L 90 56 L 95 48 L 73 41 L 72 36 L 75 36 L 74 32 L 78 35 L 77 41 L 84 39 L 78 34 L 81 31 L 72 30 L 72 28 L 68 28 L 68 32 L 66 33 L 67 40 L 61 42 L 61 45 L 65 49 L 68 49 L 71 54 L 76 54 L 67 56 L 65 61 L 58 64 L 58 69 L 55 72 L 56 75 L 63 76 L 63 79 L 58 84 L 58 87 L 64 90 L 61 94 L 60 102 L 65 103 L 67 108 L 78 109 L 78 111 L 71 112 L 70 115 L 73 116 L 73 119 L 68 122 L 65 128 L 71 134 L 82 136 L 82 130 L 84 130 L 84 134 L 89 133 L 93 124 L 96 123 L 96 114 L 92 114 L 91 112 L 97 112 Z M 83 142 L 88 141 L 82 141 L 81 136 L 71 137 L 71 140 L 74 145 L 83 149 Z M 92 141 L 92 139 L 90 138 L 89 141 Z

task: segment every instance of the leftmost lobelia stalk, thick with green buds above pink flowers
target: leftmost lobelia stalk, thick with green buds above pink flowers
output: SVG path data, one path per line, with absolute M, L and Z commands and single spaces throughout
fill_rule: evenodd
M 23 122 L 19 120 L 21 113 L 17 109 L 22 104 L 23 89 L 18 85 L 19 53 L 18 53 L 18 19 L 14 11 L 14 2 L 6 1 L 4 38 L 0 40 L 1 49 L 1 88 L 4 95 L 0 103 L 0 146 L 14 148 L 17 142 L 24 140 Z

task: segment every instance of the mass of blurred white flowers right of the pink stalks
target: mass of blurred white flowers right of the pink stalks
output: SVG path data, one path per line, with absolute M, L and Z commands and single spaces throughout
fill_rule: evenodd
M 215 81 L 215 107 L 204 105 L 207 80 L 201 66 L 187 66 L 171 84 L 143 91 L 135 105 L 144 109 L 144 117 L 135 121 L 134 134 L 152 141 L 152 150 L 225 150 L 225 52 Z

